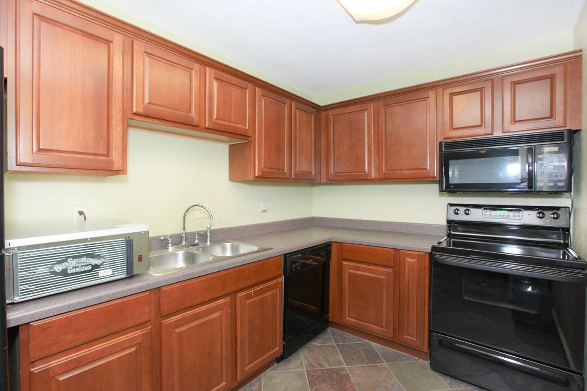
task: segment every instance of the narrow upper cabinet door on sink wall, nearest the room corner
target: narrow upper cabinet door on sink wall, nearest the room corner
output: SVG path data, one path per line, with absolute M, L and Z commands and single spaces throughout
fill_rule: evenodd
M 316 110 L 301 103 L 292 106 L 292 178 L 316 179 Z

